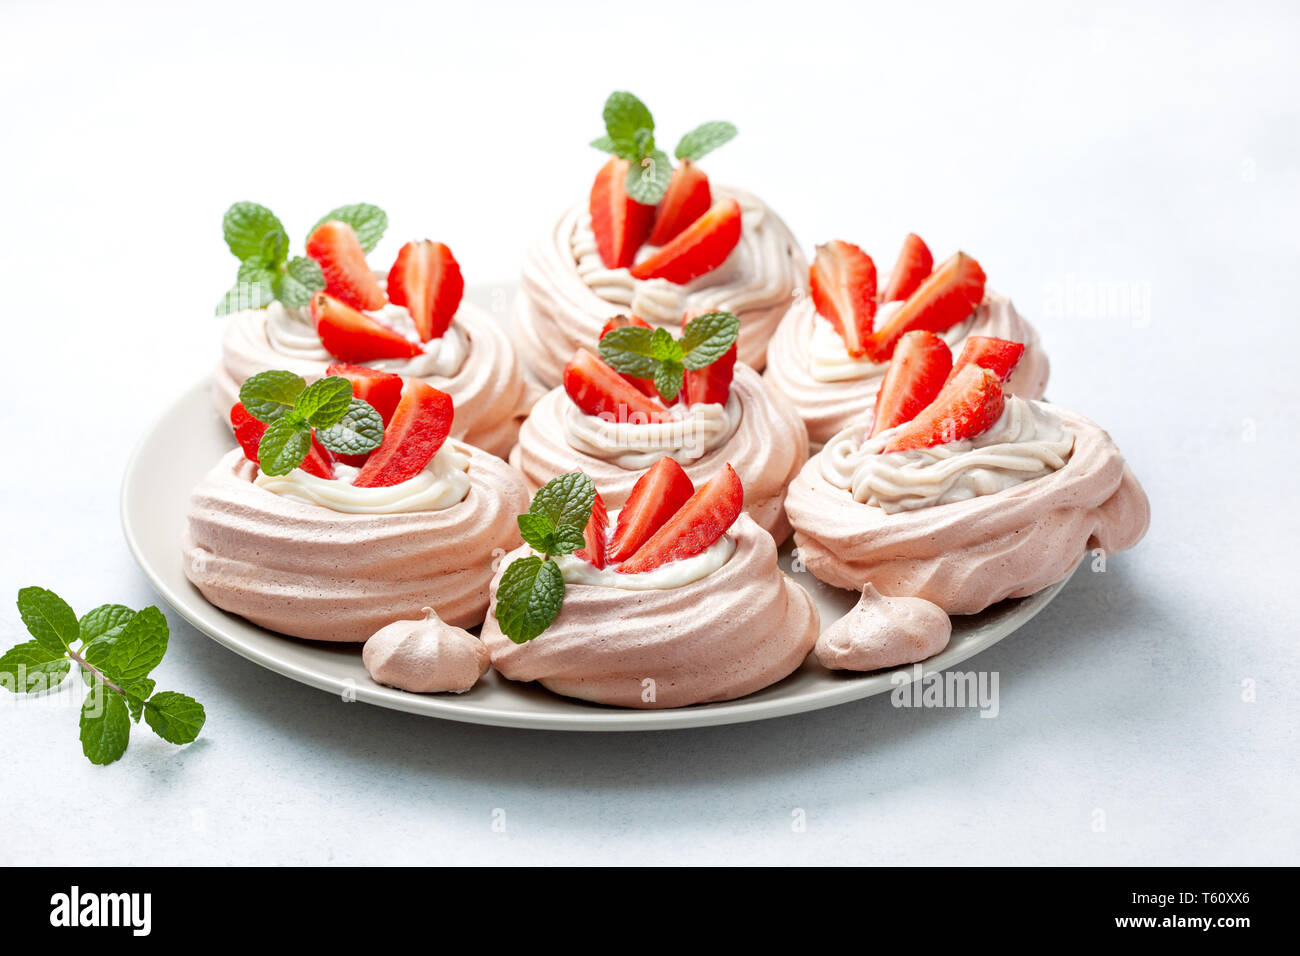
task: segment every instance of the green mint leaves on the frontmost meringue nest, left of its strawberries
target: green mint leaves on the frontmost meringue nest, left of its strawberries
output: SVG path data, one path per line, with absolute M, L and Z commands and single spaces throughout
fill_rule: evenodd
M 564 575 L 555 563 L 586 544 L 584 537 L 595 485 L 581 472 L 559 475 L 542 485 L 519 516 L 519 533 L 538 554 L 516 558 L 497 585 L 497 623 L 515 644 L 549 628 L 564 604 Z

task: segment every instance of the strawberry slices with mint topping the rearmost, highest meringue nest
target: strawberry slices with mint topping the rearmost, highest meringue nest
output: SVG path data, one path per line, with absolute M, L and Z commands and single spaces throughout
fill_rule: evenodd
M 632 94 L 610 94 L 604 129 L 606 135 L 592 146 L 612 157 L 597 173 L 589 200 L 604 265 L 679 285 L 722 265 L 740 242 L 740 204 L 714 202 L 698 161 L 732 139 L 736 127 L 706 122 L 693 129 L 677 143 L 676 168 L 655 146 L 654 117 Z M 638 263 L 637 252 L 646 243 L 655 251 Z

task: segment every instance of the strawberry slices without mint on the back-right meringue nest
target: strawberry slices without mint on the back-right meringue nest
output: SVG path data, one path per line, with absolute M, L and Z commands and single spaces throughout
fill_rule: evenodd
M 919 235 L 909 234 L 889 273 L 889 285 L 876 291 L 876 267 L 857 246 L 833 241 L 818 246 L 809 271 L 812 304 L 840 333 L 854 358 L 888 362 L 909 332 L 946 332 L 967 319 L 984 299 L 984 271 L 965 252 L 939 268 Z M 902 304 L 879 328 L 883 302 Z

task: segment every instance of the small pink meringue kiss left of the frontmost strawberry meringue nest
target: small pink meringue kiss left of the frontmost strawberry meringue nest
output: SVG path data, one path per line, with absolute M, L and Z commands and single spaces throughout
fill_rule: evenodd
M 380 684 L 415 693 L 464 693 L 488 672 L 484 643 L 442 620 L 433 607 L 419 620 L 394 620 L 365 641 L 361 662 Z

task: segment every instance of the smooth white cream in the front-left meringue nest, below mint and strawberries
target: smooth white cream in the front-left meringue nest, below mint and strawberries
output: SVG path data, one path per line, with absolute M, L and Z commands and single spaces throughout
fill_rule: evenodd
M 459 505 L 469 494 L 469 447 L 448 438 L 424 471 L 386 488 L 356 488 L 352 483 L 360 472 L 360 468 L 335 462 L 333 480 L 294 468 L 287 475 L 259 471 L 254 484 L 272 494 L 350 515 L 441 511 Z

